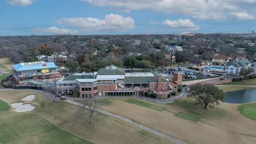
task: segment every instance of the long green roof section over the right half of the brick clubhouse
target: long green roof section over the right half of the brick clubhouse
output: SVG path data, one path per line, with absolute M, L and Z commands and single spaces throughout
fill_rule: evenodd
M 158 77 L 125 77 L 125 83 L 149 83 L 149 82 L 158 82 Z M 168 82 L 165 78 L 161 77 L 161 82 Z

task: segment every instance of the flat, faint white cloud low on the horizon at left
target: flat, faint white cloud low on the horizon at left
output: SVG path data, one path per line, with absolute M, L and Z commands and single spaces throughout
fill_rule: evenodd
M 35 28 L 33 29 L 35 33 L 44 33 L 44 34 L 60 34 L 60 35 L 66 35 L 66 34 L 77 34 L 76 30 L 70 30 L 65 28 L 57 28 L 57 27 L 49 27 L 49 28 Z

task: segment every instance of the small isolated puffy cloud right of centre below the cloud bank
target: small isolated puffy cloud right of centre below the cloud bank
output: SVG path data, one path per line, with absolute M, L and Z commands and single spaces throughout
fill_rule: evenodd
M 163 23 L 170 28 L 186 29 L 186 30 L 198 30 L 200 27 L 195 25 L 194 22 L 189 19 L 178 19 L 178 20 L 165 20 Z

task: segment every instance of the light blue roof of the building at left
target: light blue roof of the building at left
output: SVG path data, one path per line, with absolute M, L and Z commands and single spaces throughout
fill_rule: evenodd
M 28 71 L 28 70 L 37 70 L 37 69 L 46 69 L 46 68 L 58 68 L 54 62 L 27 62 L 27 63 L 18 63 L 12 65 L 12 68 L 16 71 Z

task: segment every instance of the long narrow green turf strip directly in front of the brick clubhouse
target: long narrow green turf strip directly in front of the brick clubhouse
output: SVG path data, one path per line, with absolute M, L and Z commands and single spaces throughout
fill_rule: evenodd
M 148 103 L 148 102 L 143 102 L 143 101 L 135 100 L 135 99 L 127 99 L 127 100 L 125 100 L 125 102 L 129 102 L 129 103 L 132 103 L 134 105 L 138 105 L 138 106 L 145 107 L 145 108 L 154 109 L 154 110 L 157 110 L 157 111 L 163 111 L 163 110 L 166 109 L 166 107 L 157 106 L 157 105 L 154 105 L 154 104 L 151 104 L 151 103 Z

